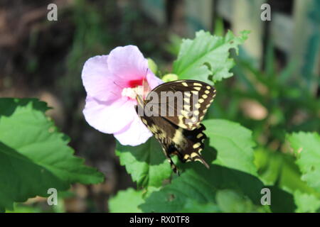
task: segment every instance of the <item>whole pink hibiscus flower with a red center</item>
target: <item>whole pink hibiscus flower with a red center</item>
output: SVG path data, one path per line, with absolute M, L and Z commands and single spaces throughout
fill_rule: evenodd
M 90 126 L 114 134 L 122 145 L 139 145 L 151 137 L 134 109 L 135 96 L 143 85 L 150 90 L 162 81 L 136 46 L 91 57 L 83 66 L 82 82 L 87 92 L 83 114 Z

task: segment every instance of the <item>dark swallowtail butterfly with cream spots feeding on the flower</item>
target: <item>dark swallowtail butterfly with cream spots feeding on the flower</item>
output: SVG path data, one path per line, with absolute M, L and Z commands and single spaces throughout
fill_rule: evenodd
M 166 99 L 161 99 L 164 94 L 167 95 Z M 175 94 L 182 94 L 182 99 L 179 101 Z M 154 100 L 154 95 L 159 98 Z M 171 169 L 177 174 L 178 170 L 171 160 L 171 155 L 178 155 L 182 162 L 200 161 L 209 168 L 201 157 L 206 139 L 206 134 L 203 133 L 206 128 L 201 121 L 214 96 L 214 87 L 191 79 L 160 84 L 146 97 L 137 95 L 137 114 L 161 143 Z M 153 115 L 150 115 L 150 111 Z

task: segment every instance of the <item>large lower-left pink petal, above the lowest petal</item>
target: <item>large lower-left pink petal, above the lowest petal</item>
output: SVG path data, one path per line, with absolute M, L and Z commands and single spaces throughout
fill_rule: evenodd
M 134 110 L 134 102 L 126 98 L 116 101 L 99 101 L 91 96 L 85 100 L 83 114 L 85 120 L 93 128 L 102 133 L 117 133 L 129 126 L 136 113 L 128 114 Z

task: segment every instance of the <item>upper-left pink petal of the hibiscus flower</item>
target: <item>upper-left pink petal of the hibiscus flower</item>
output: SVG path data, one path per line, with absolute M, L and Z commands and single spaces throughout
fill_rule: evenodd
M 82 69 L 82 82 L 87 95 L 100 101 L 110 101 L 121 97 L 121 87 L 107 65 L 108 55 L 89 58 Z

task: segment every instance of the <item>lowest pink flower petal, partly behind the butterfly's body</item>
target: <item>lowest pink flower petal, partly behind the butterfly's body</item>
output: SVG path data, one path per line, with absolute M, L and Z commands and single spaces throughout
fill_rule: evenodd
M 142 143 L 145 143 L 152 136 L 152 133 L 149 131 L 144 123 L 140 120 L 139 116 L 136 114 L 134 121 L 124 128 L 119 133 L 114 133 L 114 137 L 122 145 L 131 145 L 137 146 Z

